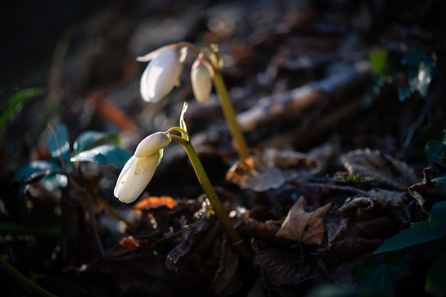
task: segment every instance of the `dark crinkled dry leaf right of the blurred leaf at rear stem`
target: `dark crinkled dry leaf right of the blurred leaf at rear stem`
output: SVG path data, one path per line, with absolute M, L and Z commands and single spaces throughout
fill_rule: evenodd
M 341 162 L 348 174 L 375 177 L 396 189 L 405 190 L 417 182 L 411 167 L 379 150 L 353 150 L 341 156 Z

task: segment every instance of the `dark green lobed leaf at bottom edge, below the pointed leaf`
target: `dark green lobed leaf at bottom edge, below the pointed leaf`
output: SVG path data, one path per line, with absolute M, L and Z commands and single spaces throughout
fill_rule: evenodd
M 395 282 L 412 272 L 409 264 L 400 254 L 386 257 L 385 263 L 379 261 L 359 261 L 351 270 L 359 288 L 367 288 L 394 296 Z

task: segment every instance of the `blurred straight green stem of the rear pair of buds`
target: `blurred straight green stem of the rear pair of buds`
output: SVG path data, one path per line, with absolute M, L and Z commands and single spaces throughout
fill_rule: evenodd
M 244 160 L 249 157 L 247 142 L 244 140 L 239 123 L 237 123 L 234 108 L 232 108 L 226 85 L 224 85 L 222 74 L 219 71 L 215 71 L 214 73 L 214 86 L 219 94 L 220 105 L 222 105 L 224 118 L 226 118 L 229 126 L 229 132 L 231 132 L 232 139 L 236 142 L 235 149 L 239 153 L 240 159 Z

